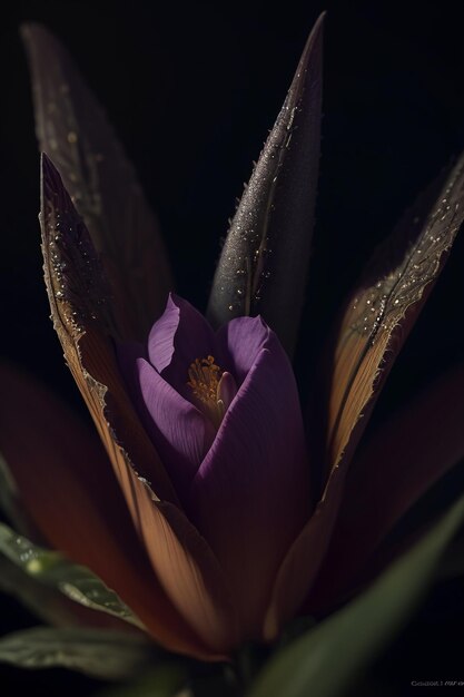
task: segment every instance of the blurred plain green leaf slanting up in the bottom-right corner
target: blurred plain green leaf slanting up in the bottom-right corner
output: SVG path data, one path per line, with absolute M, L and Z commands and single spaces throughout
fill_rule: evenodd
M 463 520 L 464 497 L 356 600 L 278 651 L 258 675 L 248 697 L 345 694 L 349 681 L 413 612 Z

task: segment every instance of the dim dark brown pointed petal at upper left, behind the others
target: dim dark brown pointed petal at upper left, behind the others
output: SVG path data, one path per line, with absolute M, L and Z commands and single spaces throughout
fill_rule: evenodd
M 172 289 L 158 222 L 112 128 L 67 50 L 22 27 L 40 149 L 53 157 L 112 286 L 111 328 L 142 341 Z

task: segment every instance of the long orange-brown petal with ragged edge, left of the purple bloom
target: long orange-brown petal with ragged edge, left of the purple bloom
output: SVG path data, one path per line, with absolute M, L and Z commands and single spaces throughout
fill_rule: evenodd
M 46 156 L 41 223 L 55 327 L 157 578 L 204 642 L 214 651 L 228 650 L 237 631 L 225 580 L 206 542 L 176 508 L 176 492 L 127 396 L 105 333 L 110 303 L 98 259 Z

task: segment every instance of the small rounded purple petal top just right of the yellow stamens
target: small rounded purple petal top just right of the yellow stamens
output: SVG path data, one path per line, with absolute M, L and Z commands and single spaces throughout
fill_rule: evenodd
M 217 333 L 218 352 L 223 354 L 223 361 L 238 384 L 247 376 L 251 365 L 272 332 L 261 317 L 237 317 L 220 327 Z

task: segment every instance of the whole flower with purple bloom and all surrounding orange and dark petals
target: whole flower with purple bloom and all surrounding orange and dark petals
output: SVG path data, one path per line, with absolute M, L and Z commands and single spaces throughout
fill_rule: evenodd
M 304 301 L 322 21 L 225 242 L 208 308 L 216 335 L 174 295 L 161 315 L 171 282 L 134 173 L 67 55 L 41 28 L 27 38 L 39 139 L 66 183 L 43 156 L 51 314 L 106 454 L 7 373 L 1 446 L 24 505 L 168 649 L 217 660 L 248 638 L 273 641 L 368 580 L 393 524 L 464 455 L 461 365 L 362 440 L 462 223 L 463 159 L 375 253 L 322 343 L 317 419 L 302 421 L 279 342 L 290 356 Z

